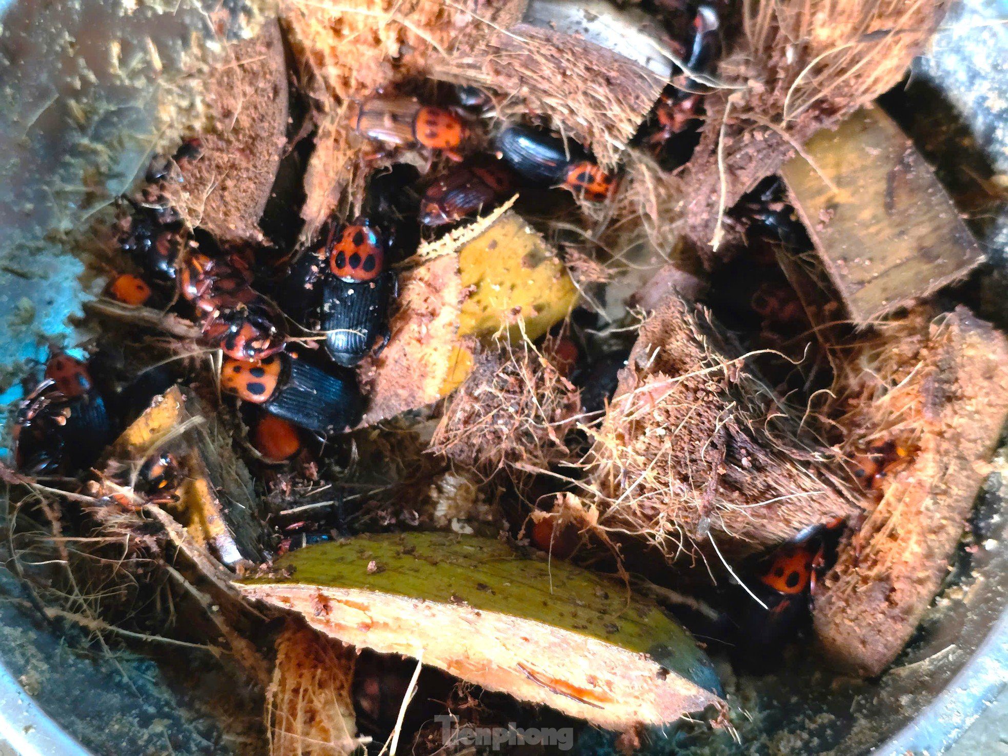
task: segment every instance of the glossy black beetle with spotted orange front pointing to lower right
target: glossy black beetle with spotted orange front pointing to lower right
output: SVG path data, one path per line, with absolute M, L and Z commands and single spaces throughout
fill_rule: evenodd
M 531 126 L 509 126 L 497 135 L 501 158 L 532 183 L 563 186 L 577 197 L 601 202 L 612 194 L 616 177 L 604 171 L 578 142 Z

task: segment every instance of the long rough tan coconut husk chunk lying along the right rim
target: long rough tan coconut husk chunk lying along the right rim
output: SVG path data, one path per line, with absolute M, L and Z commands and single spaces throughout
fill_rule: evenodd
M 963 306 L 932 316 L 887 324 L 848 366 L 847 451 L 880 499 L 842 544 L 812 618 L 828 657 L 866 676 L 896 657 L 941 586 L 1008 415 L 1008 340 Z

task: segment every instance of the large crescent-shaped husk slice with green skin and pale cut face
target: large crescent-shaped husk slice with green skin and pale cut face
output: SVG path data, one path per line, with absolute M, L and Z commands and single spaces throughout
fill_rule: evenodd
M 365 535 L 307 546 L 249 599 L 335 638 L 425 664 L 612 730 L 723 710 L 711 662 L 656 605 L 496 539 Z

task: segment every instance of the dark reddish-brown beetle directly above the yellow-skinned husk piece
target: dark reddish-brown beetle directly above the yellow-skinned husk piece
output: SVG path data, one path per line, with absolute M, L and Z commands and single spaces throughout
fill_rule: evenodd
M 596 166 L 598 167 L 598 166 Z M 420 223 L 444 226 L 491 208 L 514 192 L 515 175 L 502 160 L 473 161 L 449 170 L 420 199 Z

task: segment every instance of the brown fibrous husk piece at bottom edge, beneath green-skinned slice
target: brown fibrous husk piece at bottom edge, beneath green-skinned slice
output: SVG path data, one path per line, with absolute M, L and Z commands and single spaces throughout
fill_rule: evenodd
M 288 622 L 276 638 L 266 690 L 271 756 L 350 756 L 357 737 L 353 646 Z

